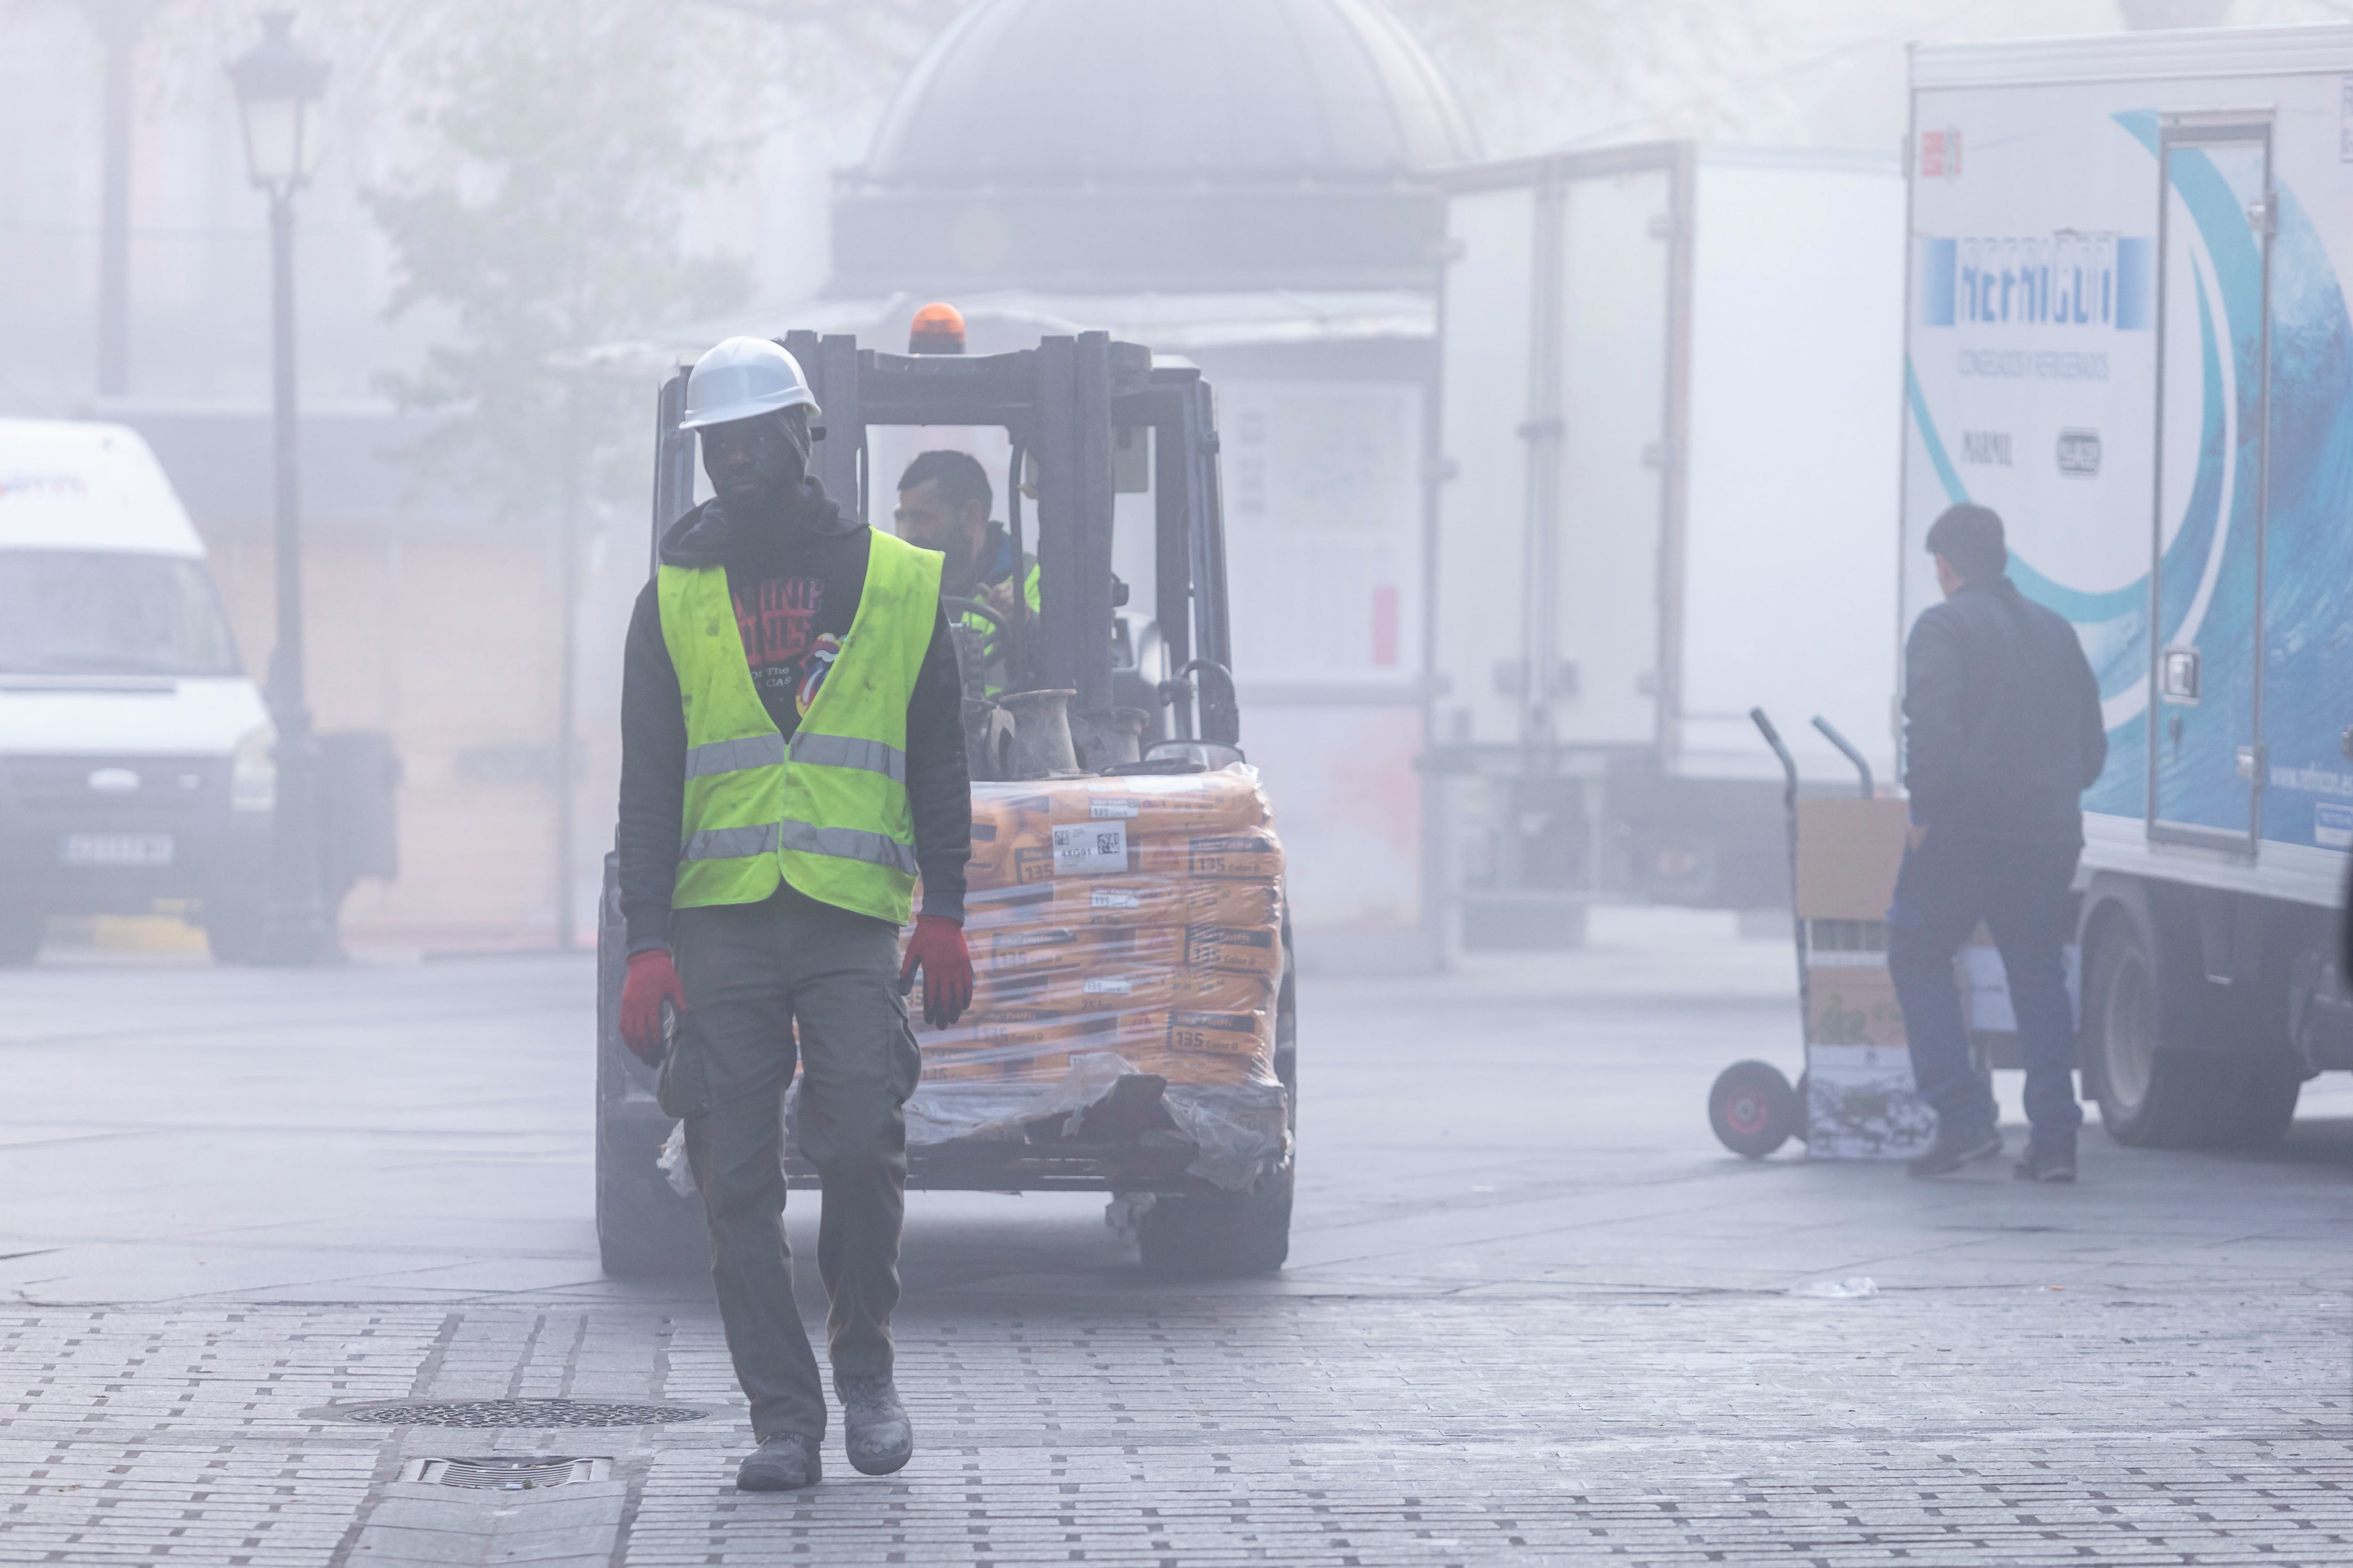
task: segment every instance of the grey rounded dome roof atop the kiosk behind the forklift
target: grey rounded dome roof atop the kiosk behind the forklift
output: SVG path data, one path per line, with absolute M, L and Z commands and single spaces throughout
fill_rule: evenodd
M 1473 155 L 1369 0 L 981 0 L 833 209 L 859 292 L 1428 289 Z

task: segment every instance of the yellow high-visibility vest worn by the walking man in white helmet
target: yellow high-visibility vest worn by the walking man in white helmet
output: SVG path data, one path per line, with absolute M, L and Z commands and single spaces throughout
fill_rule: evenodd
M 871 538 L 859 611 L 791 748 L 751 682 L 727 569 L 661 569 L 661 639 L 687 715 L 673 907 L 758 903 L 791 882 L 821 903 L 906 924 L 915 889 L 906 701 L 939 618 L 941 555 Z

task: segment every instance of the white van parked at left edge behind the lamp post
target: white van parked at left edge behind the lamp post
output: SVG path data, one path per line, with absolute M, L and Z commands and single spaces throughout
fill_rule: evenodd
M 268 710 L 205 541 L 122 425 L 0 418 L 0 964 L 49 914 L 198 900 L 249 959 L 268 884 Z

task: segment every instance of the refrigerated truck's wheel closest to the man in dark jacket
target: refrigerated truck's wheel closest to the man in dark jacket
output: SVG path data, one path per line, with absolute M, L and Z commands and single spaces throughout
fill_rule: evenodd
M 2186 1150 L 2214 1131 L 2217 1098 L 2231 1105 L 2224 1074 L 2184 1048 L 2198 997 L 2158 947 L 2155 922 L 2139 898 L 2108 905 L 2097 929 L 2082 987 L 2082 1046 L 2092 1058 L 2099 1119 L 2118 1143 Z

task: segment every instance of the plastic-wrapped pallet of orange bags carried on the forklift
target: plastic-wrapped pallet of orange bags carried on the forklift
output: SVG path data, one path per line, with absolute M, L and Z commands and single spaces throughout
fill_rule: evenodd
M 1254 769 L 976 783 L 965 940 L 972 1009 L 913 1025 L 920 1164 L 1247 1187 L 1287 1157 L 1282 842 Z

